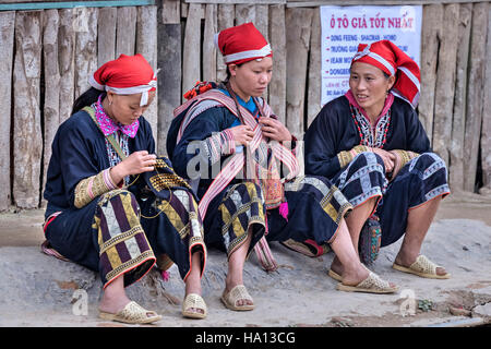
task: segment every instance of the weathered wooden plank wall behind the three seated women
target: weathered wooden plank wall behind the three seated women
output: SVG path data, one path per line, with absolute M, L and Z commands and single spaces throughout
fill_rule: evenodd
M 172 110 L 196 81 L 223 80 L 213 35 L 252 21 L 274 50 L 265 97 L 299 137 L 319 112 L 319 3 L 164 0 L 157 5 L 0 12 L 0 210 L 44 204 L 57 127 L 97 67 L 141 52 L 159 68 L 146 113 L 166 153 Z M 491 194 L 491 5 L 423 4 L 421 122 L 448 164 L 454 191 Z M 15 48 L 15 50 L 14 50 Z

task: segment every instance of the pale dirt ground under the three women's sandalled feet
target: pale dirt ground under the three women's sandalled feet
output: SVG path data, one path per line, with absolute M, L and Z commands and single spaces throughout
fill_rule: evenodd
M 88 282 L 87 279 L 97 284 L 92 280 L 95 279 L 92 272 L 69 266 L 71 263 L 53 262 L 55 258 L 39 252 L 39 244 L 44 240 L 41 222 L 43 209 L 12 209 L 0 214 L 0 326 L 127 326 L 98 320 L 99 286 L 85 287 L 93 290 L 88 296 L 88 314 L 74 316 L 73 312 L 67 311 L 70 304 L 63 305 L 63 311 L 57 311 L 60 300 L 56 297 L 65 297 L 67 292 L 62 291 L 69 290 L 71 293 L 81 282 Z M 253 257 L 247 263 L 244 281 L 256 303 L 252 312 L 237 314 L 226 310 L 219 302 L 226 261 L 221 254 L 212 251 L 203 279 L 203 296 L 209 311 L 204 321 L 190 321 L 180 316 L 179 303 L 183 293 L 177 272 L 171 272 L 168 284 L 155 281 L 156 276 L 152 273 L 147 277 L 149 281 L 143 284 L 160 282 L 161 286 L 157 291 L 160 300 L 151 303 L 164 315 L 164 320 L 155 326 L 445 327 L 489 323 L 491 197 L 452 194 L 442 203 L 422 253 L 445 266 L 452 273 L 451 279 L 423 279 L 392 269 L 399 246 L 400 241 L 383 249 L 375 264 L 370 267 L 383 278 L 399 285 L 399 293 L 391 296 L 336 291 L 336 282 L 326 276 L 332 252 L 318 258 L 308 258 L 275 243 L 272 244 L 272 251 L 280 264 L 278 272 L 266 274 Z M 20 280 L 19 275 L 9 272 L 12 266 L 22 268 L 22 274 L 27 275 L 26 280 L 22 280 L 23 276 Z M 58 267 L 59 270 L 51 272 Z M 51 284 L 56 285 L 56 292 L 52 291 L 53 286 L 48 285 L 49 280 L 46 280 L 50 277 L 55 278 L 56 282 Z M 40 289 L 51 294 L 39 294 Z M 55 294 L 57 292 L 60 296 Z M 151 291 L 151 294 L 155 297 L 155 292 Z M 137 289 L 131 294 L 140 297 L 142 291 Z M 411 299 L 415 302 L 410 303 L 412 308 L 408 308 L 408 300 Z M 415 310 L 415 313 L 408 314 L 408 309 Z

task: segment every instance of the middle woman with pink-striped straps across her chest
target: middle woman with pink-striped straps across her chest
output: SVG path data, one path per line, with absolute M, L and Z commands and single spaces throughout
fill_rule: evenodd
M 340 192 L 322 177 L 297 177 L 296 140 L 261 97 L 273 70 L 262 34 L 246 23 L 215 39 L 228 77 L 187 93 L 190 100 L 175 110 L 167 153 L 176 171 L 196 182 L 206 245 L 227 253 L 224 304 L 235 311 L 254 308 L 242 272 L 264 236 L 330 242 L 345 267 L 340 290 L 396 291 L 358 260 L 344 222 L 350 205 Z M 283 179 L 278 164 L 287 173 Z

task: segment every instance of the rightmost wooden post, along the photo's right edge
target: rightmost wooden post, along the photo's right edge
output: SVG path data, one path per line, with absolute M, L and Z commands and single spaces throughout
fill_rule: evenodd
M 472 7 L 468 77 L 468 81 L 471 83 L 468 86 L 467 93 L 466 134 L 464 143 L 464 190 L 470 192 L 476 190 L 479 136 L 482 122 L 482 100 L 484 96 L 484 59 L 488 24 L 488 2 L 475 3 Z

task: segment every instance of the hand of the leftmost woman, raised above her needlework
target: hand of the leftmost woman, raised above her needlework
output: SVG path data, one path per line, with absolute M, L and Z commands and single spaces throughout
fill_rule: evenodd
M 110 174 L 112 181 L 119 183 L 127 176 L 153 171 L 156 158 L 157 156 L 155 154 L 148 154 L 147 151 L 132 153 L 124 160 L 111 168 Z

